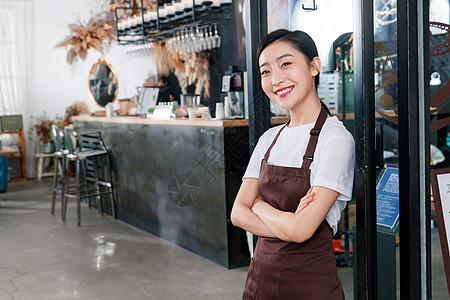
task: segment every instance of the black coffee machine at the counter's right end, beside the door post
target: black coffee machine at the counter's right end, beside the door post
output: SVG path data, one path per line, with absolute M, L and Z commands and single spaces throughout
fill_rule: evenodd
M 222 92 L 227 93 L 224 99 L 226 118 L 244 118 L 244 74 L 236 66 L 230 66 L 222 77 Z

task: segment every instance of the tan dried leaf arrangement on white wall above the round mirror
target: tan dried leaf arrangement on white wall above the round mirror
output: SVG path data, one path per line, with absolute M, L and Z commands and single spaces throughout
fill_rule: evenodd
M 122 1 L 117 1 L 118 3 Z M 77 58 L 85 60 L 87 51 L 95 49 L 104 54 L 103 47 L 116 41 L 114 21 L 114 4 L 109 4 L 109 11 L 91 18 L 86 24 L 69 24 L 70 35 L 55 48 L 71 46 L 67 53 L 67 62 L 71 65 Z

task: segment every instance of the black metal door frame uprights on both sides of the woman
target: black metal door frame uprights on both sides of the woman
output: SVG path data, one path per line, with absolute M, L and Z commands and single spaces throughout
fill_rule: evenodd
M 249 20 L 246 59 L 252 152 L 261 134 L 270 127 L 270 105 L 261 92 L 255 64 L 256 47 L 267 33 L 267 1 L 245 0 L 244 5 Z M 354 0 L 353 7 L 358 250 L 354 298 L 370 300 L 378 298 L 374 1 Z M 400 297 L 431 299 L 429 1 L 398 0 L 397 18 Z

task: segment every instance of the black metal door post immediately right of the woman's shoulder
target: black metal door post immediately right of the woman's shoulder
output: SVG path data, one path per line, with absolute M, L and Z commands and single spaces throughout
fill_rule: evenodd
M 377 297 L 373 1 L 354 1 L 356 264 L 355 299 Z

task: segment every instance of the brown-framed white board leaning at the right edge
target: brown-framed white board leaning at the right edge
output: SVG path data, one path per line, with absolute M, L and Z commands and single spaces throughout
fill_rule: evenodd
M 431 170 L 431 188 L 433 189 L 442 258 L 450 296 L 450 168 Z

